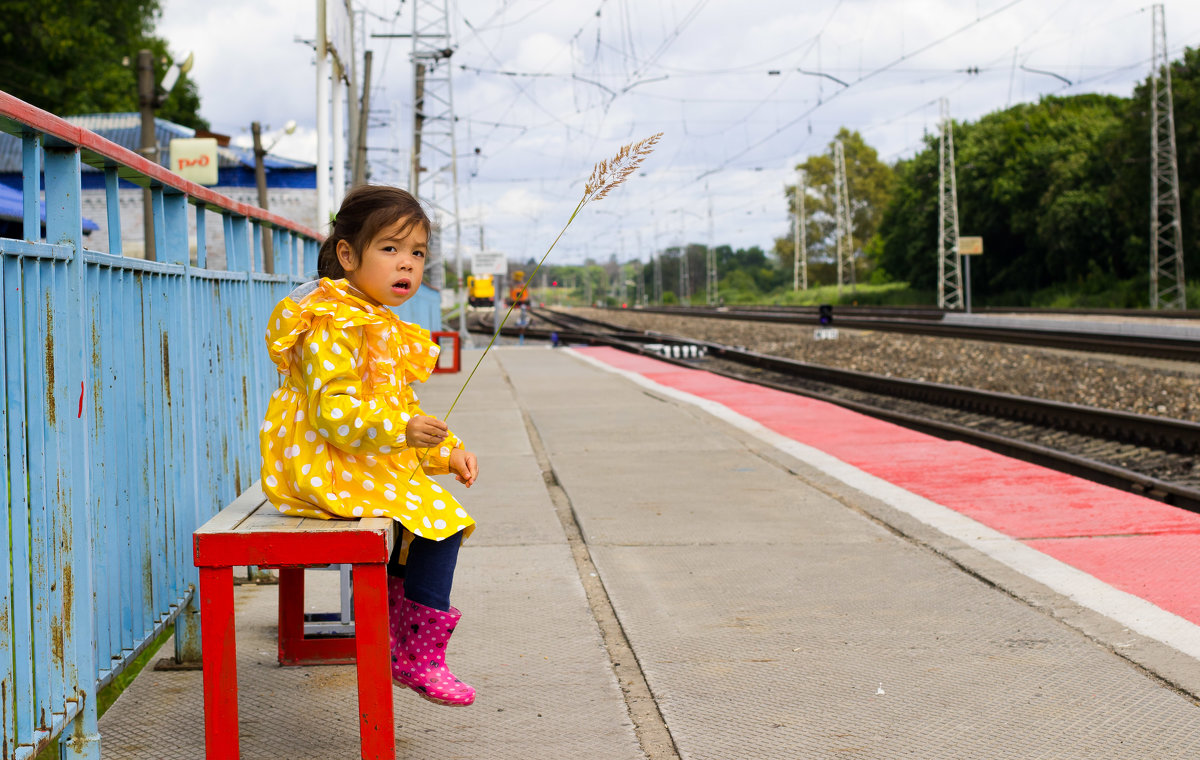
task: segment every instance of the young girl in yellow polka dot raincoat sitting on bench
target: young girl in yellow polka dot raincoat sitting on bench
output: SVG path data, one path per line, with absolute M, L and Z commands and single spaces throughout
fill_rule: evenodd
M 281 511 L 322 520 L 389 516 L 401 528 L 388 563 L 391 675 L 440 705 L 470 705 L 445 647 L 458 546 L 475 521 L 431 474 L 475 481 L 475 455 L 418 406 L 413 383 L 438 346 L 388 306 L 416 293 L 430 220 L 384 186 L 346 196 L 318 256 L 320 280 L 271 313 L 266 345 L 284 376 L 259 432 L 263 491 Z M 403 564 L 401 562 L 403 561 Z

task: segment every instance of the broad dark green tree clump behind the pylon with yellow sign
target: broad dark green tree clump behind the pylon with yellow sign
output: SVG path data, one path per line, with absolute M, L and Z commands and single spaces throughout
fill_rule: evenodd
M 972 262 L 976 294 L 1027 299 L 1114 270 L 1122 226 L 1110 187 L 1120 157 L 1104 146 L 1124 109 L 1110 95 L 1045 97 L 954 125 L 960 233 L 984 238 L 984 256 Z M 896 167 L 880 235 L 880 265 L 920 289 L 937 287 L 937 150 L 928 138 Z

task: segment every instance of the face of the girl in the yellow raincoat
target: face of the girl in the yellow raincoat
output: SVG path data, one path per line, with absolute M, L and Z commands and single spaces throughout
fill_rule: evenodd
M 404 231 L 404 227 L 408 231 Z M 354 261 L 350 244 L 337 241 L 337 259 L 346 279 L 382 306 L 400 306 L 421 287 L 428 235 L 421 225 L 401 219 L 380 229 Z

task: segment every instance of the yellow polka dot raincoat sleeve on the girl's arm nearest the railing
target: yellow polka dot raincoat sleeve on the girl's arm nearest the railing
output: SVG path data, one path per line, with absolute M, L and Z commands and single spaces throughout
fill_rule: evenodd
M 310 424 L 343 451 L 394 454 L 407 445 L 409 413 L 386 396 L 362 397 L 364 340 L 362 328 L 335 328 L 328 321 L 305 335 L 300 371 Z

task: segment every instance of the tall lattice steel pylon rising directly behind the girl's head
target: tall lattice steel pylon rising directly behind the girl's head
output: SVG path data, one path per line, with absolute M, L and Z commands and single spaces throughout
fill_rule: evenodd
M 448 0 L 413 0 L 413 161 L 409 190 L 433 213 L 426 281 L 445 286 L 445 238 L 454 234 L 455 273 L 462 285 L 462 228 L 458 219 L 458 152 L 455 143 L 454 91 L 450 83 Z M 466 321 L 463 321 L 464 323 Z

